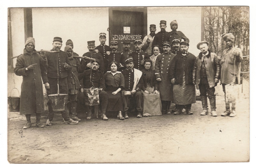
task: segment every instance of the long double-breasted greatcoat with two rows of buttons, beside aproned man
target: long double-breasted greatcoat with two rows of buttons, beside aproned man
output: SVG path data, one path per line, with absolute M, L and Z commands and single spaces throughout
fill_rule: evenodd
M 160 54 L 156 58 L 155 62 L 155 76 L 160 77 L 161 81 L 158 82 L 160 97 L 164 101 L 172 101 L 172 83 L 170 78 L 170 66 L 171 61 L 175 57 L 174 54 L 169 52 L 168 54 Z

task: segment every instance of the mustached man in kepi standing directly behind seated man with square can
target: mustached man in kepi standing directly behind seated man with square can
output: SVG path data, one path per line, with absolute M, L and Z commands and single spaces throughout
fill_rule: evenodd
M 105 68 L 104 61 L 101 54 L 99 52 L 98 53 L 95 52 L 95 41 L 88 41 L 87 44 L 88 44 L 87 48 L 89 52 L 84 53 L 83 57 L 89 57 L 92 59 L 100 60 L 100 64 L 102 66 L 99 67 L 99 71 L 103 73 Z M 85 62 L 87 63 L 86 69 L 91 69 L 92 63 L 90 62 L 90 60 L 85 60 Z

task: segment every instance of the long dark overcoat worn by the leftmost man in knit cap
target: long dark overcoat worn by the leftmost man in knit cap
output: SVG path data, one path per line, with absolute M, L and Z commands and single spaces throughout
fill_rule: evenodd
M 26 71 L 25 68 L 32 64 L 37 65 L 34 66 L 33 70 Z M 44 112 L 42 79 L 47 78 L 44 67 L 46 65 L 47 59 L 43 59 L 36 50 L 29 54 L 24 49 L 24 53 L 17 58 L 14 73 L 23 77 L 20 93 L 20 115 Z

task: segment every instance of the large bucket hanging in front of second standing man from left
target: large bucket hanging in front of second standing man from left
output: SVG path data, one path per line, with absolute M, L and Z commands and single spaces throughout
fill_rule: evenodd
M 52 105 L 52 110 L 54 112 L 64 111 L 65 105 L 68 102 L 68 94 L 59 94 L 59 84 L 58 84 L 58 94 L 50 94 L 48 98 Z

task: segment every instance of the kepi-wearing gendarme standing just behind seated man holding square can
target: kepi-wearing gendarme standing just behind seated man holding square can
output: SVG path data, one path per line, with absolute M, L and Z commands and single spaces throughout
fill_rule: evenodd
M 95 41 L 88 41 L 87 43 L 88 43 L 88 47 L 89 47 L 89 45 L 94 45 L 95 46 Z M 104 61 L 103 61 L 103 58 L 102 58 L 101 54 L 99 52 L 96 53 L 95 48 L 92 49 L 91 51 L 89 50 L 89 52 L 84 53 L 83 57 L 85 57 L 85 56 L 89 57 L 89 58 L 92 58 L 92 59 L 98 59 L 98 60 L 100 60 L 100 64 L 104 64 Z M 85 62 L 86 62 L 86 64 L 88 64 L 88 63 L 90 63 L 90 60 L 85 60 Z M 89 69 L 89 68 L 86 67 L 86 69 Z M 99 67 L 99 71 L 102 72 L 102 73 L 104 72 L 104 65 Z

